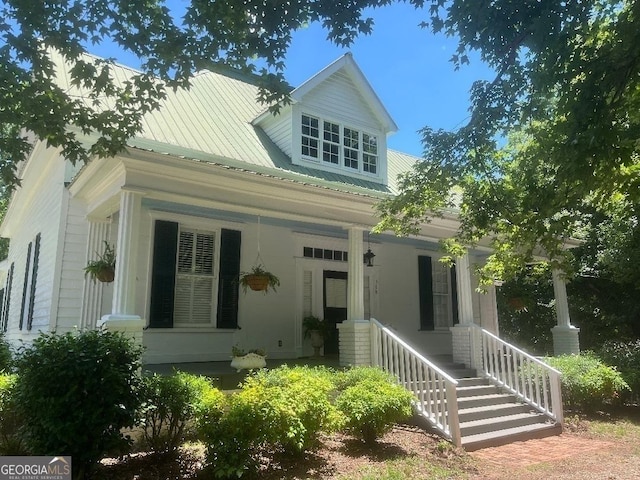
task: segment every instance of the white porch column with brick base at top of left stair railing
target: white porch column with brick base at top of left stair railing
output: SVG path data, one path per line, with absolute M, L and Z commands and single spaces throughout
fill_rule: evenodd
M 349 229 L 347 320 L 338 324 L 340 365 L 371 364 L 371 326 L 364 319 L 364 228 Z

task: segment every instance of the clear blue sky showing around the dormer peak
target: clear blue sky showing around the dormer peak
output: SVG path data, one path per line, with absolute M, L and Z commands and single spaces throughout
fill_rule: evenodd
M 169 0 L 179 14 L 185 0 Z M 471 65 L 454 71 L 449 61 L 456 41 L 434 35 L 418 25 L 427 20 L 427 12 L 405 3 L 371 10 L 373 33 L 359 37 L 348 49 L 338 48 L 326 40 L 326 31 L 312 24 L 294 34 L 285 76 L 295 86 L 308 80 L 347 51 L 371 83 L 398 132 L 388 139 L 390 148 L 422 155 L 418 130 L 424 126 L 455 129 L 467 120 L 469 88 L 477 79 L 490 79 L 490 70 L 472 57 Z M 137 67 L 131 55 L 119 55 L 113 47 L 90 48 L 92 53 L 117 58 Z

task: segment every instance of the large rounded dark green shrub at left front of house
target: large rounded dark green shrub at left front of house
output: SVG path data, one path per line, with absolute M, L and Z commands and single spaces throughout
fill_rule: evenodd
M 74 478 L 121 453 L 139 408 L 140 347 L 106 331 L 41 334 L 16 359 L 15 399 L 35 455 L 71 455 Z

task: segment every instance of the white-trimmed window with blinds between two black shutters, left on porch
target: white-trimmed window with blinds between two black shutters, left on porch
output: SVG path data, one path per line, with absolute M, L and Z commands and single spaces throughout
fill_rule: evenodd
M 216 285 L 214 232 L 180 227 L 174 322 L 211 324 L 214 321 Z

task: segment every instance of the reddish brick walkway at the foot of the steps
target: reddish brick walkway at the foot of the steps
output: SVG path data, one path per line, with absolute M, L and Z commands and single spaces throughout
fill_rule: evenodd
M 470 455 L 496 466 L 527 467 L 536 463 L 552 462 L 612 448 L 615 444 L 589 438 L 562 434 L 525 442 L 515 442 L 501 447 L 484 448 Z

